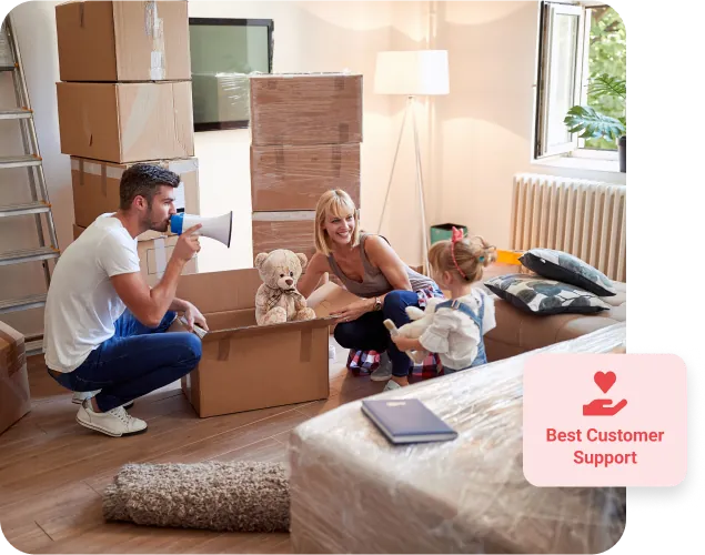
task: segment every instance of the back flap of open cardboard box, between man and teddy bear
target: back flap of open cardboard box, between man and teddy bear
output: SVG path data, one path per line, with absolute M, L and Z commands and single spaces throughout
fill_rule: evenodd
M 255 268 L 203 272 L 182 275 L 177 296 L 192 302 L 203 314 L 252 309 L 261 284 Z

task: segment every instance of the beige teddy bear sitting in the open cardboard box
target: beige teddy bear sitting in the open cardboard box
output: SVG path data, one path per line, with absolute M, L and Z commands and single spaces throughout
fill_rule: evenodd
M 254 317 L 258 325 L 313 320 L 313 309 L 296 290 L 296 283 L 308 263 L 305 254 L 276 249 L 261 252 L 254 259 L 262 285 L 254 296 Z

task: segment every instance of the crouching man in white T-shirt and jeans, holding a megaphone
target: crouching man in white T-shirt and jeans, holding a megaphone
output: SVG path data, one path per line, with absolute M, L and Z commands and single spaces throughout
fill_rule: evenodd
M 87 395 L 79 424 L 113 437 L 144 432 L 147 423 L 124 405 L 180 380 L 201 359 L 189 332 L 164 333 L 182 312 L 190 331 L 205 319 L 175 299 L 183 266 L 201 249 L 194 225 L 179 236 L 164 275 L 150 289 L 140 272 L 137 236 L 165 232 L 175 213 L 179 175 L 135 164 L 120 181 L 120 210 L 102 214 L 71 243 L 54 269 L 44 310 L 44 359 L 49 374 Z

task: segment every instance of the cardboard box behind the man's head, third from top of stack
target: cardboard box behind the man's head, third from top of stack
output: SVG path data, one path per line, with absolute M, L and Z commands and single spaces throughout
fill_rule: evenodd
M 174 205 L 178 212 L 199 213 L 199 164 L 198 159 L 152 160 L 178 173 L 181 182 L 175 191 Z M 88 228 L 100 214 L 120 208 L 120 179 L 133 164 L 115 164 L 71 157 L 71 184 L 73 186 L 73 221 Z

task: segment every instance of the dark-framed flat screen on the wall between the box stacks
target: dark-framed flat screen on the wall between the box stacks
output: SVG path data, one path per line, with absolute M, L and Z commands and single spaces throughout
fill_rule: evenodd
M 271 19 L 189 18 L 194 131 L 250 124 L 248 74 L 271 73 Z

